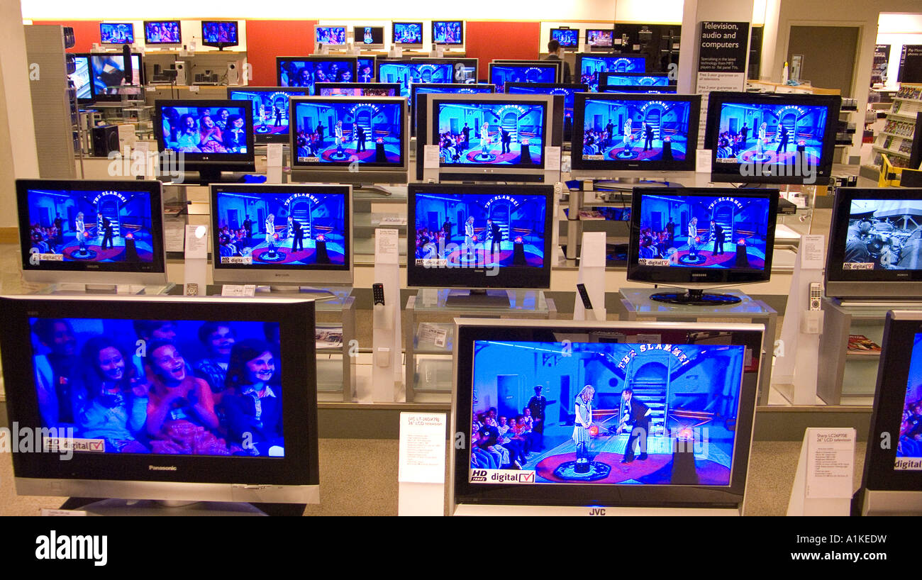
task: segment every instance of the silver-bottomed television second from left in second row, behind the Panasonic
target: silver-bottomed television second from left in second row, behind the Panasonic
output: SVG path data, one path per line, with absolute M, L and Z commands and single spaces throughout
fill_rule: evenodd
M 349 185 L 211 185 L 216 283 L 352 283 Z

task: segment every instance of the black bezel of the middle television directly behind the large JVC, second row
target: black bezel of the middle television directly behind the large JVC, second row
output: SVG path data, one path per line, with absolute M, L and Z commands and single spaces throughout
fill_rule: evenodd
M 443 193 L 443 195 L 545 195 L 544 266 L 535 268 L 500 267 L 496 276 L 487 276 L 484 268 L 427 268 L 417 266 L 416 255 L 416 196 Z M 407 185 L 408 227 L 408 288 L 454 289 L 549 289 L 553 246 L 554 186 L 535 184 L 472 184 L 472 183 L 409 183 Z M 460 224 L 455 224 L 460 227 Z M 452 279 L 456 278 L 456 279 Z

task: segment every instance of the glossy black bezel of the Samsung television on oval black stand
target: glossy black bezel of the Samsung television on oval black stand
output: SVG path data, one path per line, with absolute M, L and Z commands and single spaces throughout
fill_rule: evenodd
M 768 198 L 768 216 L 766 217 L 765 231 L 765 266 L 761 270 L 754 268 L 709 268 L 709 267 L 661 267 L 640 266 L 640 219 L 641 201 L 644 195 L 668 196 L 698 196 L 698 197 L 752 197 Z M 627 279 L 632 282 L 647 284 L 669 284 L 672 286 L 700 286 L 700 285 L 727 285 L 750 284 L 754 282 L 767 282 L 772 278 L 772 259 L 774 256 L 774 229 L 778 215 L 777 189 L 744 189 L 733 187 L 634 187 L 631 199 L 630 238 L 628 240 Z M 680 226 L 676 226 L 680 227 Z M 732 240 L 728 242 L 730 248 L 735 247 Z

